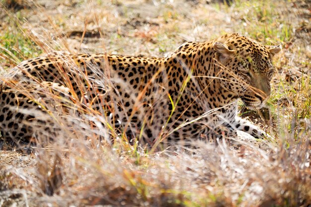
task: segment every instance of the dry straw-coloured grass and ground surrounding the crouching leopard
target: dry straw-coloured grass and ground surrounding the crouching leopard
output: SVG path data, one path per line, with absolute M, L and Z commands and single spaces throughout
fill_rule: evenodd
M 231 6 L 203 0 L 27 5 L 31 9 L 0 7 L 3 69 L 54 50 L 160 57 L 185 40 L 207 40 L 227 32 L 282 44 L 275 59 L 268 125 L 256 112 L 250 116 L 274 140 L 245 139 L 238 149 L 223 140 L 217 147 L 196 142 L 193 153 L 181 146 L 151 153 L 128 144 L 108 126 L 94 126 L 92 120 L 105 120 L 69 98 L 63 88 L 51 90 L 43 84 L 33 93 L 34 84 L 26 92 L 33 99 L 47 96 L 42 106 L 62 133 L 44 147 L 38 144 L 32 154 L 0 151 L 0 206 L 311 206 L 311 27 L 303 0 L 236 0 Z M 24 87 L 16 85 L 15 90 L 25 93 Z M 64 103 L 83 116 L 67 114 L 64 119 L 68 112 L 53 108 Z M 67 130 L 73 120 L 78 127 Z M 119 139 L 109 143 L 108 133 Z

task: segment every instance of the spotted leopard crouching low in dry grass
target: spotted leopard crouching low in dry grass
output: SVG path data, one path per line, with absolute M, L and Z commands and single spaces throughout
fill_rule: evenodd
M 129 140 L 150 145 L 236 138 L 237 131 L 264 138 L 263 130 L 238 116 L 238 101 L 249 109 L 266 104 L 275 71 L 272 58 L 280 51 L 280 45 L 229 33 L 185 42 L 161 58 L 49 53 L 25 60 L 1 77 L 0 133 L 27 142 L 59 131 L 35 113 L 44 111 L 40 100 L 48 96 L 40 93 L 33 101 L 24 89 L 16 90 L 22 85 L 32 93 L 42 87 L 57 90 L 78 100 L 74 105 L 100 112 Z

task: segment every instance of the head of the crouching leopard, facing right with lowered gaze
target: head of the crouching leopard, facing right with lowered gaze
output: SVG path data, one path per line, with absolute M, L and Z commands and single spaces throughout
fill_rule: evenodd
M 222 87 L 233 91 L 248 108 L 261 108 L 270 95 L 275 70 L 272 58 L 281 51 L 281 46 L 264 46 L 233 33 L 215 42 L 213 48 Z

